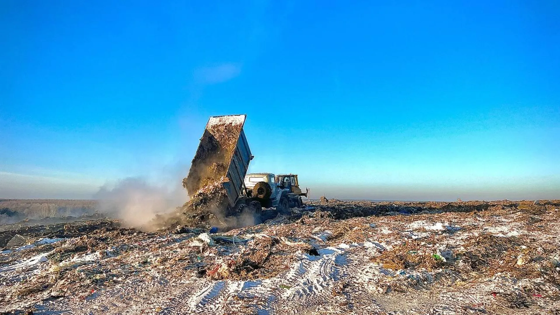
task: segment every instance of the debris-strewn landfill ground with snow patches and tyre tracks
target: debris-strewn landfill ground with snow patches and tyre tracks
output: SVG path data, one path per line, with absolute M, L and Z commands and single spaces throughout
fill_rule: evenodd
M 216 234 L 1 226 L 0 312 L 560 314 L 559 200 L 305 206 Z

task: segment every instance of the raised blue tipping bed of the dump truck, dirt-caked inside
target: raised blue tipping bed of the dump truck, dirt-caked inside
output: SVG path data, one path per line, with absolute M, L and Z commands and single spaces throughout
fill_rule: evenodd
M 246 115 L 223 115 L 208 119 L 189 174 L 183 180 L 189 196 L 207 186 L 221 185 L 229 205 L 235 205 L 252 158 L 243 132 L 245 118 Z

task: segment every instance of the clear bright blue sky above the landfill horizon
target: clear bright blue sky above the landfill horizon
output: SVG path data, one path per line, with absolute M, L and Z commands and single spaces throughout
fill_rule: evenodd
M 209 115 L 315 197 L 560 198 L 560 2 L 0 2 L 0 197 L 179 185 Z

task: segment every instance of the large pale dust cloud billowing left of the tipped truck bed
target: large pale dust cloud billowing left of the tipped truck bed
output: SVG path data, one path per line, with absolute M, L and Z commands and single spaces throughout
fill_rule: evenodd
M 94 198 L 99 212 L 123 220 L 125 226 L 151 230 L 156 215 L 168 214 L 188 199 L 180 187 L 148 183 L 143 178 L 129 177 L 119 180 L 113 187 L 102 186 Z

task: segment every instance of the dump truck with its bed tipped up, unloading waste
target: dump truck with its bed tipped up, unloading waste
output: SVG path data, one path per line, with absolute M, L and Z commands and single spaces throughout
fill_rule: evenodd
M 267 219 L 290 206 L 300 206 L 301 196 L 276 184 L 271 173 L 247 174 L 254 158 L 243 131 L 246 115 L 212 116 L 200 138 L 183 187 L 192 199 L 189 207 L 223 210 L 224 216 L 251 211 Z M 274 208 L 272 211 L 262 209 Z

